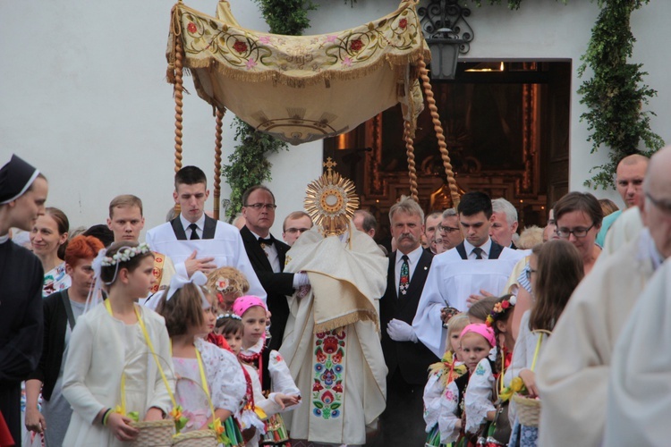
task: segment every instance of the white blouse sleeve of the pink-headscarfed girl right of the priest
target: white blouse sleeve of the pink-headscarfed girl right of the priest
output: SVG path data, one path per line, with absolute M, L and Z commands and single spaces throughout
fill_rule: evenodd
M 496 408 L 492 403 L 494 391 L 494 375 L 492 375 L 488 358 L 483 358 L 475 368 L 466 387 L 463 406 L 466 412 L 466 433 L 476 433 L 480 425 L 487 420 L 488 411 Z

